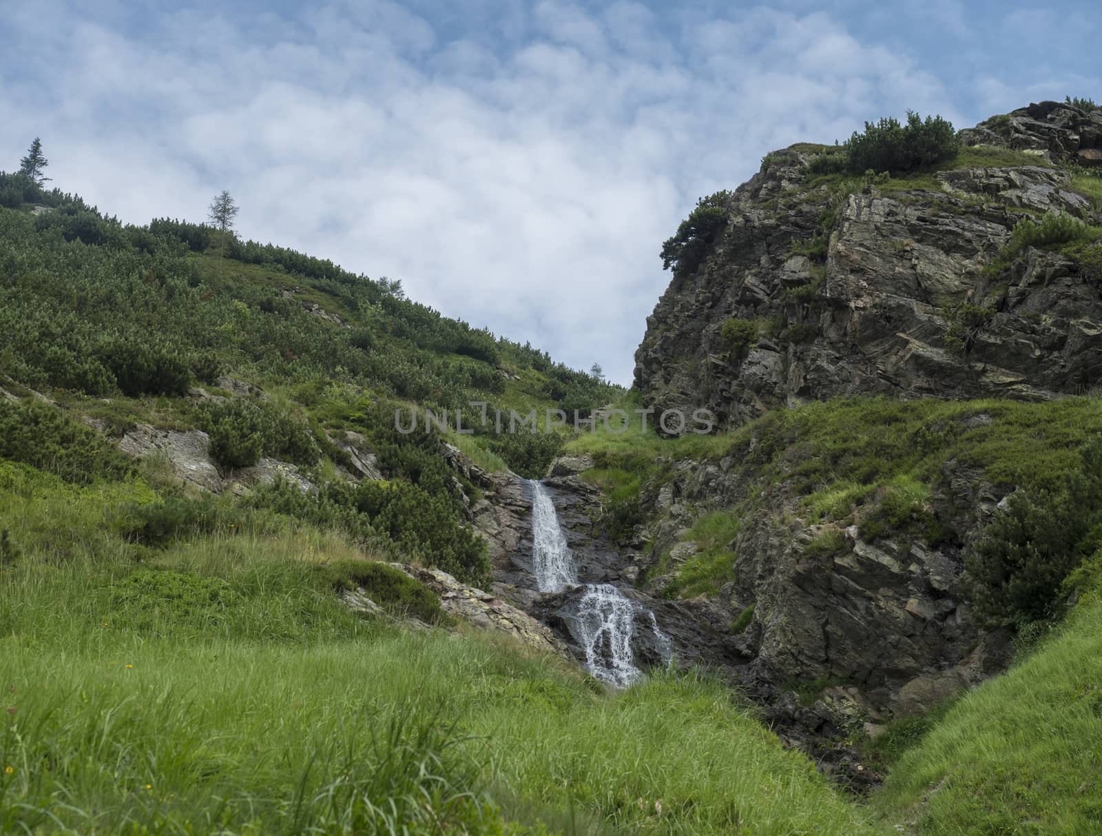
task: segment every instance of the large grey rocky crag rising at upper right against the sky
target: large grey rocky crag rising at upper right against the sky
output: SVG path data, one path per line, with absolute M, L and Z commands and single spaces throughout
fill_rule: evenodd
M 1102 111 L 1045 103 L 963 137 L 1069 161 L 1102 148 Z M 1096 282 L 1037 249 L 1009 274 L 985 271 L 1024 212 L 1093 217 L 1067 172 L 946 171 L 937 186 L 869 183 L 832 206 L 824 190 L 799 191 L 808 159 L 798 148 L 770 154 L 735 191 L 710 258 L 670 282 L 636 352 L 647 406 L 707 407 L 730 427 L 839 395 L 1049 398 L 1102 382 Z M 825 257 L 793 255 L 829 212 Z M 962 335 L 953 311 L 964 304 L 993 313 Z M 759 323 L 754 344 L 724 340 L 728 318 Z

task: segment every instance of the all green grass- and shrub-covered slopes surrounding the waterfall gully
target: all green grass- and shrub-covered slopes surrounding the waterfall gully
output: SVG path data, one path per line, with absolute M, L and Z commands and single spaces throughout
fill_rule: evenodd
M 640 401 L 397 282 L 205 225 L 123 225 L 7 174 L 0 333 L 0 833 L 1089 834 L 1102 817 L 1095 395 L 839 398 L 680 439 L 497 433 L 473 409 L 472 436 L 406 433 L 396 409 Z M 287 478 L 215 494 L 121 449 L 196 429 L 219 479 L 263 461 Z M 1023 489 L 1018 527 L 972 564 L 1018 662 L 876 741 L 835 741 L 886 774 L 849 794 L 707 671 L 612 693 L 388 566 L 491 580 L 468 513 L 483 486 L 442 440 L 525 476 L 587 454 L 620 542 L 679 461 L 733 460 L 760 496 L 789 485 L 778 513 L 824 537 L 941 536 L 929 485 L 948 462 L 981 470 Z M 361 457 L 380 479 L 349 478 Z M 722 588 L 755 496 L 679 534 L 702 547 L 666 597 Z M 982 575 L 1012 551 L 1014 571 Z M 355 587 L 381 611 L 343 603 Z

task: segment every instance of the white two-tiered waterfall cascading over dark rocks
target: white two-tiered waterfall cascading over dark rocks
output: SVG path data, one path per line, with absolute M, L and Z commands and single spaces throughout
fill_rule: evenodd
M 532 570 L 541 592 L 576 587 L 577 570 L 566 537 L 559 525 L 551 496 L 539 482 L 532 486 Z M 642 672 L 635 664 L 631 636 L 636 618 L 646 613 L 663 661 L 670 658 L 670 640 L 658 629 L 655 613 L 626 598 L 612 583 L 586 583 L 577 601 L 572 632 L 585 653 L 585 668 L 603 682 L 624 688 Z

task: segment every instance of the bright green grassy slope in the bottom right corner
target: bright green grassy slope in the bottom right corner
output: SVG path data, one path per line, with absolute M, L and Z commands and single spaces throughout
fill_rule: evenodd
M 1102 821 L 1102 602 L 965 695 L 895 765 L 874 808 L 915 834 L 1093 834 Z

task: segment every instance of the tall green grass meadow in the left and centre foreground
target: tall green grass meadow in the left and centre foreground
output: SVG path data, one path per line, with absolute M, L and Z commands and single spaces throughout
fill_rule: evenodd
M 141 483 L 0 463 L 0 832 L 876 833 L 724 685 L 609 695 L 339 603 L 339 535 L 129 542 Z M 404 829 L 403 829 L 404 828 Z

